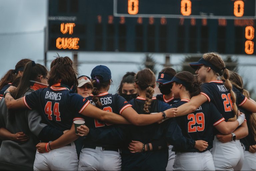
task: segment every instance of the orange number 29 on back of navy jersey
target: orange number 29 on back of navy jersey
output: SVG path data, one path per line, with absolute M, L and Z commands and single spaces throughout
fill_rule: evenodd
M 203 131 L 204 130 L 204 114 L 197 113 L 196 116 L 191 113 L 188 114 L 188 120 L 192 119 L 188 122 L 188 132 L 196 132 L 196 131 Z M 195 126 L 195 124 L 200 126 Z

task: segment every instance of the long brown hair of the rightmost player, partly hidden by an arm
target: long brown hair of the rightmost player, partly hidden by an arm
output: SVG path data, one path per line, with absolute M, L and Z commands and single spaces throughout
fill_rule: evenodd
M 250 98 L 250 93 L 249 91 L 244 89 L 243 79 L 239 74 L 231 71 L 230 81 L 245 97 L 247 97 L 248 99 Z M 256 113 L 252 113 L 250 115 L 250 125 L 254 136 L 254 141 L 256 141 Z

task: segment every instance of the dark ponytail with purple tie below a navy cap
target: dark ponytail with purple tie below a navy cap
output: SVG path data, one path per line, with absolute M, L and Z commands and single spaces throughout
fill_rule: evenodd
M 93 85 L 93 89 L 92 89 L 92 101 L 95 103 L 95 106 L 100 108 L 102 107 L 101 102 L 99 101 L 99 97 L 97 97 L 97 95 L 100 93 L 99 89 L 101 88 L 106 88 L 109 84 L 110 84 L 110 80 L 103 82 L 103 78 L 100 75 L 96 75 L 95 76 L 99 82 L 97 82 L 97 80 L 95 78 L 92 78 L 92 85 Z

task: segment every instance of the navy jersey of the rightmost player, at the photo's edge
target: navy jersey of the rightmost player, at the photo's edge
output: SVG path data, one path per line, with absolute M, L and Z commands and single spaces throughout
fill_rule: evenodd
M 239 109 L 240 110 L 240 109 Z M 252 132 L 252 128 L 251 128 L 251 119 L 250 119 L 250 115 L 252 114 L 252 112 L 249 112 L 245 109 L 243 109 L 244 111 L 244 114 L 245 114 L 245 118 L 246 118 L 246 123 L 247 123 L 247 126 L 248 126 L 248 135 L 242 139 L 240 139 L 241 143 L 244 144 L 245 146 L 245 150 L 246 151 L 249 151 L 249 147 L 251 145 L 255 145 L 256 144 L 256 141 L 254 140 L 254 134 Z

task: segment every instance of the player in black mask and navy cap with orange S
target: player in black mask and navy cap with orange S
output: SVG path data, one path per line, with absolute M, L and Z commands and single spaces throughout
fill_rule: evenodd
M 159 83 L 159 90 L 162 94 L 158 94 L 156 98 L 158 100 L 164 101 L 165 103 L 169 105 L 173 105 L 174 103 L 180 101 L 178 98 L 174 98 L 172 96 L 172 91 L 171 91 L 171 83 L 170 81 L 176 74 L 176 71 L 170 67 L 166 67 L 162 69 L 157 78 L 157 83 Z M 169 148 L 169 159 L 168 159 L 168 165 L 166 167 L 166 170 L 172 170 L 172 166 L 174 163 L 174 158 L 175 158 L 175 153 L 172 151 L 172 145 L 168 146 Z

